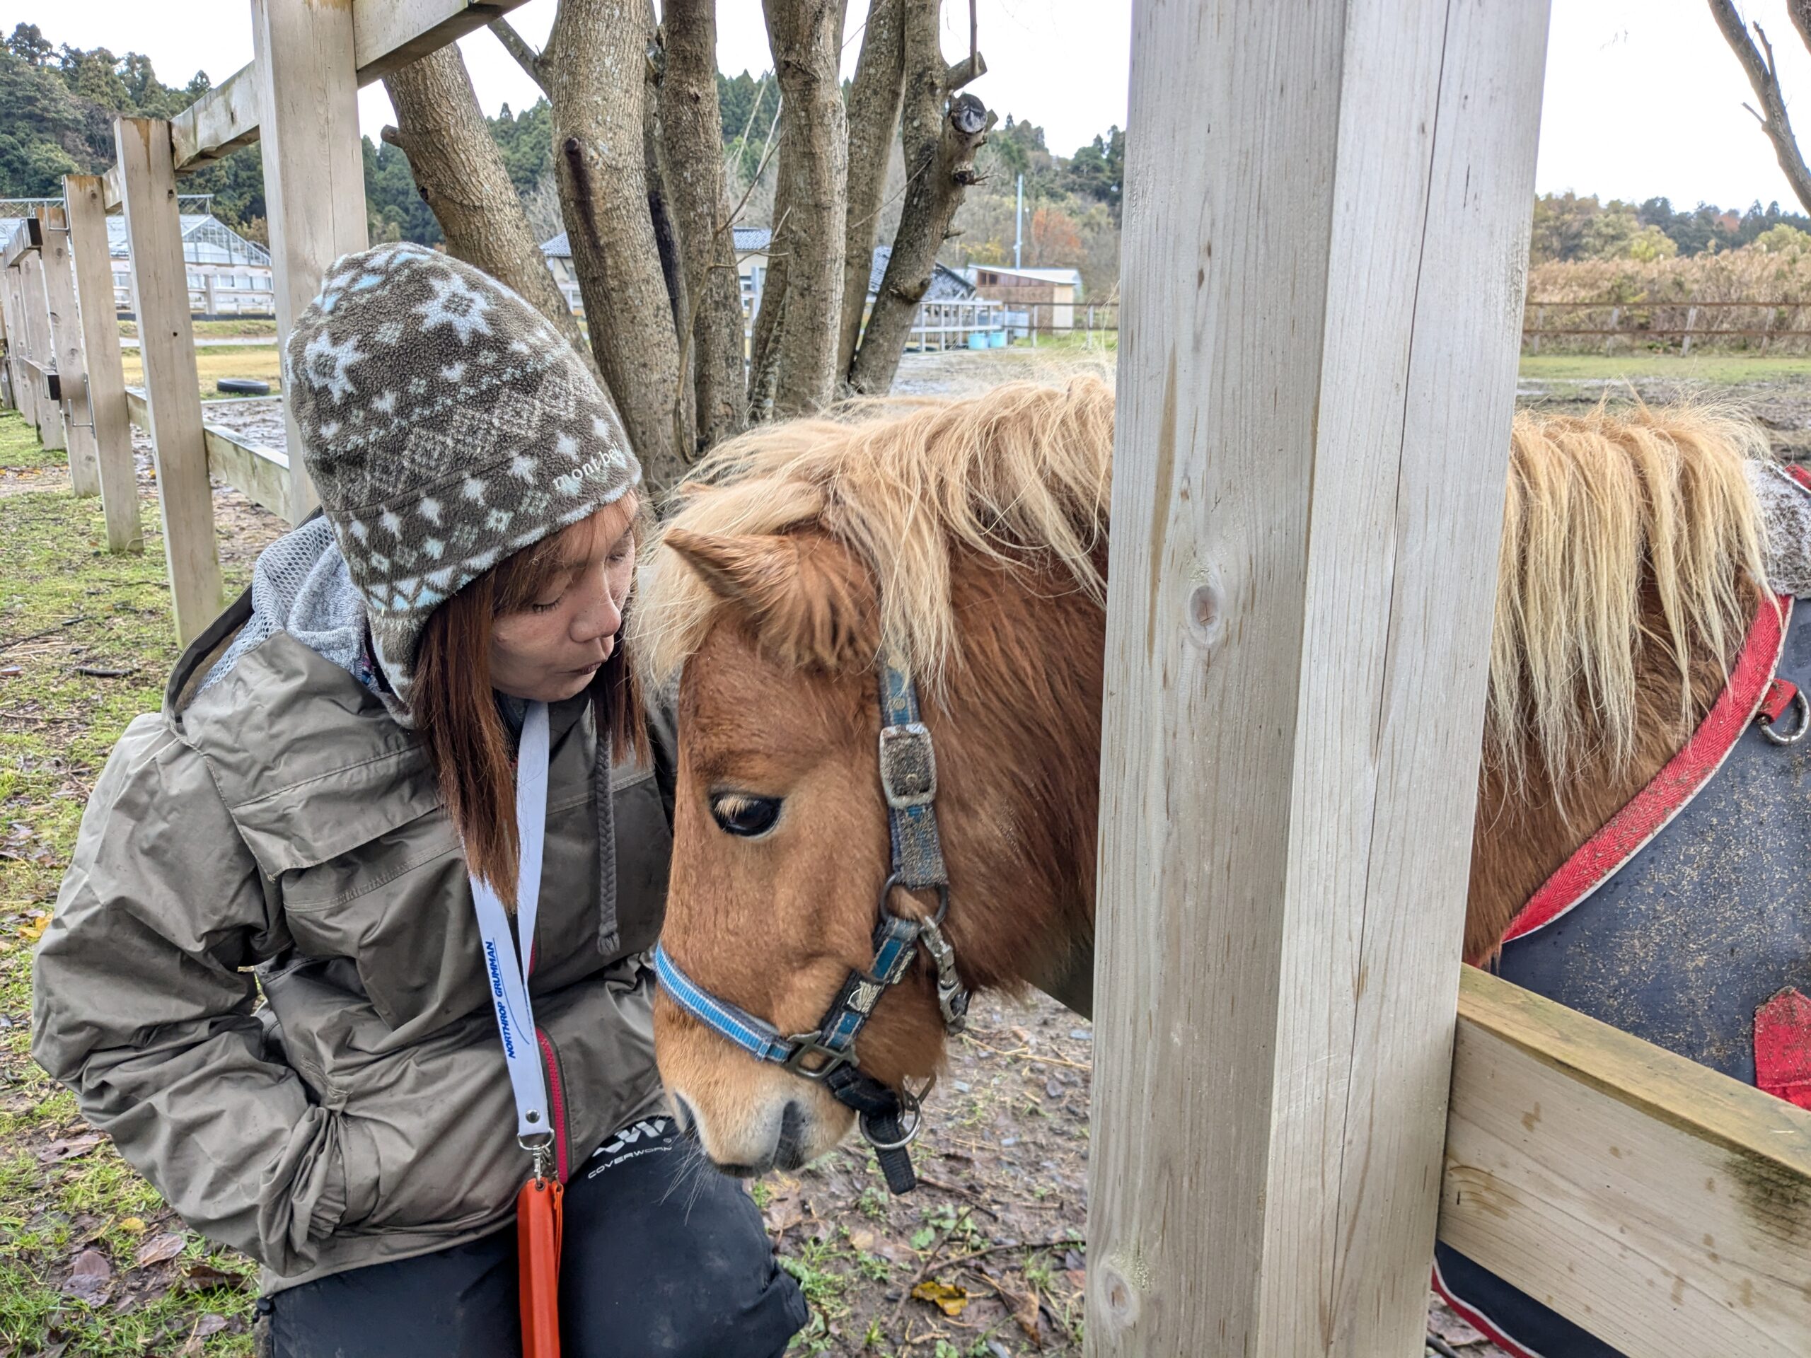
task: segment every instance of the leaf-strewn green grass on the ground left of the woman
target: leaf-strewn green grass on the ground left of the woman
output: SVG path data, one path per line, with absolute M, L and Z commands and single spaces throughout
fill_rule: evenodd
M 0 418 L 0 460 L 13 462 L 22 426 Z M 0 668 L 18 668 L 0 675 L 0 1353 L 174 1354 L 205 1315 L 228 1329 L 199 1353 L 252 1353 L 255 1267 L 187 1231 L 112 1143 L 89 1143 L 72 1095 L 29 1056 L 31 945 L 81 808 L 125 724 L 156 710 L 177 655 L 154 514 L 145 538 L 143 556 L 109 556 L 98 500 L 0 500 Z M 92 679 L 76 665 L 130 674 Z M 179 1253 L 139 1266 L 138 1251 L 167 1235 Z M 89 1249 L 110 1267 L 98 1304 L 63 1289 Z

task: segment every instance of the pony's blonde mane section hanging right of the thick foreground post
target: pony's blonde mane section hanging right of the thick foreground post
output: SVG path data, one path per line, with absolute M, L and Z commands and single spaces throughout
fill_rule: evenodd
M 1500 770 L 1519 779 L 1532 755 L 1559 788 L 1626 768 L 1643 663 L 1690 715 L 1693 655 L 1731 661 L 1766 583 L 1744 464 L 1771 456 L 1751 420 L 1713 406 L 1516 415 L 1490 636 Z

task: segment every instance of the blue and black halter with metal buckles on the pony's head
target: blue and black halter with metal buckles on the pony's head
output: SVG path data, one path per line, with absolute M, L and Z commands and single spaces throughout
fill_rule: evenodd
M 853 1108 L 862 1137 L 875 1148 L 887 1188 L 909 1193 L 916 1175 L 907 1146 L 918 1137 L 918 1101 L 924 1092 L 895 1090 L 862 1070 L 857 1065 L 855 1038 L 880 996 L 906 980 L 918 945 L 924 945 L 936 965 L 936 1007 L 945 1032 L 958 1034 L 967 1027 L 969 990 L 944 936 L 949 871 L 936 833 L 936 751 L 931 748 L 931 732 L 918 719 L 918 690 L 893 652 L 880 668 L 880 791 L 887 802 L 893 865 L 880 887 L 875 961 L 867 971 L 849 972 L 817 1030 L 782 1036 L 766 1019 L 704 990 L 679 969 L 665 943 L 654 949 L 654 971 L 666 998 L 706 1028 L 728 1038 L 757 1061 L 773 1061 L 800 1079 L 822 1085 L 837 1103 Z M 933 887 L 936 914 L 929 920 L 911 920 L 891 911 L 895 889 Z

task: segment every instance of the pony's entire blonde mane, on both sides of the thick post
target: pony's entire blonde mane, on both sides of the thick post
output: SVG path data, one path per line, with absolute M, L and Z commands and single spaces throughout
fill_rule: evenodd
M 886 645 L 934 686 L 960 655 L 953 549 L 1054 565 L 1103 599 L 1112 440 L 1114 393 L 1096 377 L 866 402 L 724 444 L 679 487 L 666 527 L 824 529 L 873 569 Z M 1498 768 L 1519 777 L 1532 757 L 1559 786 L 1626 764 L 1643 661 L 1677 675 L 1686 715 L 1693 655 L 1733 657 L 1748 588 L 1766 579 L 1744 462 L 1769 456 L 1753 422 L 1715 407 L 1516 415 L 1490 643 L 1485 753 Z M 652 547 L 630 646 L 656 688 L 677 679 L 717 605 Z

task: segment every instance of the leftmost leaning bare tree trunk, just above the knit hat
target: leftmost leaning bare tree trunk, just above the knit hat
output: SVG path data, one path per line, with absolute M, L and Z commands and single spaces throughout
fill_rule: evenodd
M 382 138 L 409 158 L 415 186 L 446 232 L 447 253 L 520 293 L 596 373 L 585 331 L 529 230 L 458 47 L 449 43 L 393 71 L 384 89 L 397 107 L 397 127 L 386 127 Z

